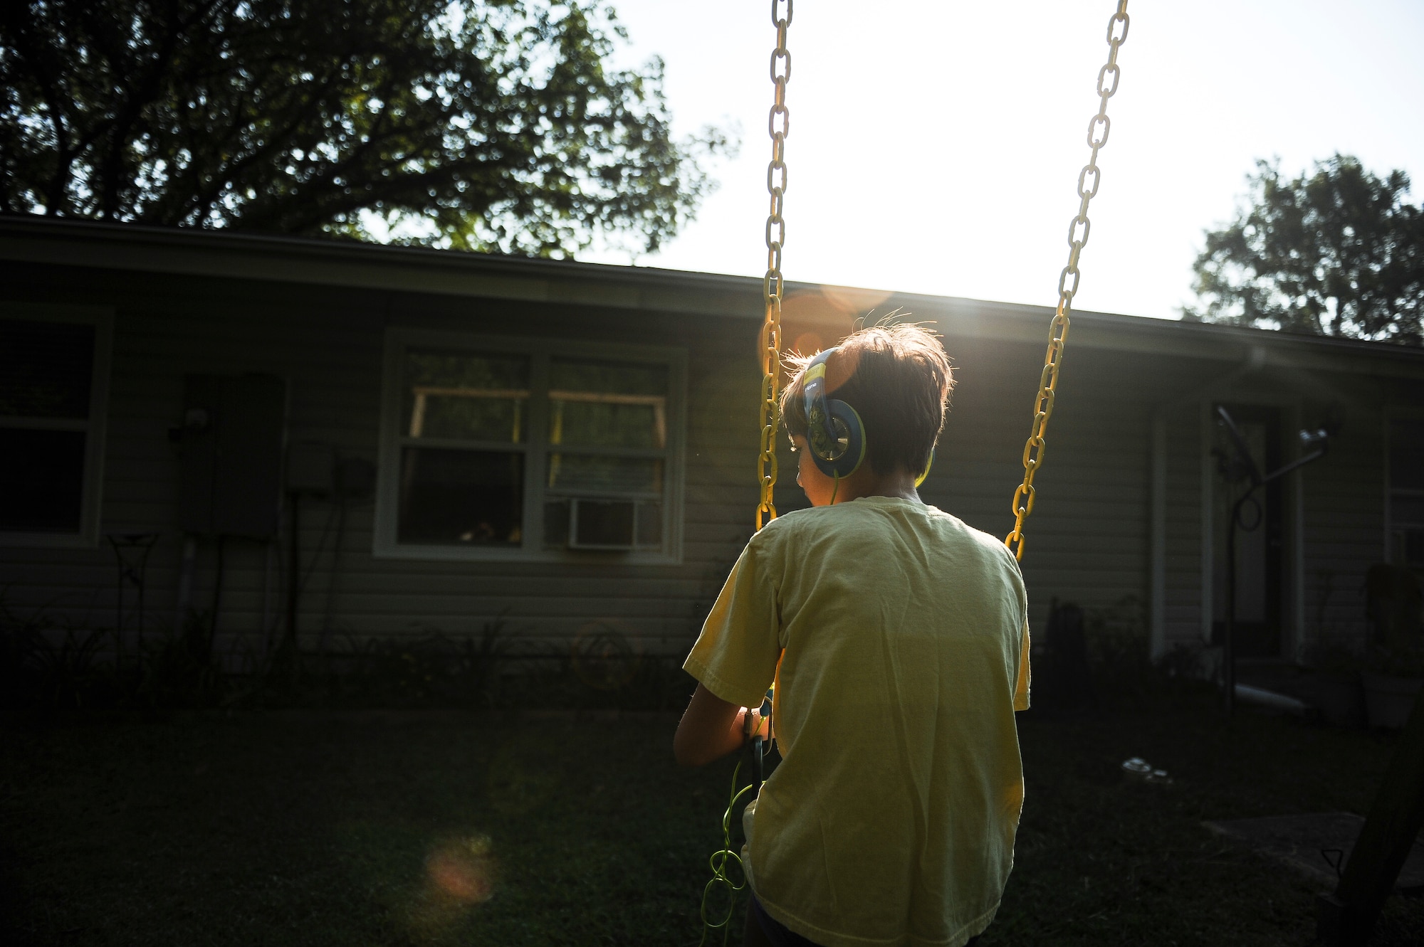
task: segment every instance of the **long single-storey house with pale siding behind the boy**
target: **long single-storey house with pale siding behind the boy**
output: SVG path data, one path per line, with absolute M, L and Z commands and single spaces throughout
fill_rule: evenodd
M 498 617 L 675 654 L 752 532 L 760 280 L 23 216 L 0 267 L 13 614 L 137 646 L 215 613 L 225 654 Z M 921 492 L 1004 535 L 1051 311 L 792 283 L 785 338 L 893 310 L 958 365 Z M 1225 405 L 1263 469 L 1330 431 L 1243 515 L 1240 653 L 1364 641 L 1367 567 L 1424 565 L 1421 382 L 1420 350 L 1075 313 L 1031 623 L 1136 601 L 1158 657 L 1219 640 Z M 780 471 L 785 510 L 785 444 Z

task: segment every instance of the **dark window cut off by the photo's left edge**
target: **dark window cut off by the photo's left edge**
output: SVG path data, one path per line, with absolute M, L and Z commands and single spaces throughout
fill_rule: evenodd
M 0 303 L 0 543 L 98 542 L 110 317 Z

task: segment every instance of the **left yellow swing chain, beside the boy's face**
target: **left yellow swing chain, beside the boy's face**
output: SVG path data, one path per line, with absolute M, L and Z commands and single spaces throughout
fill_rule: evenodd
M 785 1 L 786 16 L 779 14 Z M 756 479 L 762 498 L 756 506 L 756 528 L 776 519 L 776 425 L 780 424 L 782 371 L 782 246 L 786 243 L 786 220 L 782 202 L 786 196 L 786 134 L 792 114 L 786 109 L 786 82 L 792 77 L 792 54 L 786 50 L 786 31 L 792 24 L 792 0 L 772 0 L 772 23 L 776 24 L 776 48 L 772 50 L 772 82 L 776 98 L 766 128 L 772 135 L 772 162 L 766 166 L 766 191 L 772 195 L 772 210 L 766 218 L 766 277 L 762 296 L 766 299 L 766 320 L 762 323 L 762 451 L 756 458 Z

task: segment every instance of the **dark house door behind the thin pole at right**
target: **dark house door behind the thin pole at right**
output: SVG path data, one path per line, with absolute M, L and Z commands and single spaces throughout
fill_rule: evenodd
M 1260 405 L 1225 405 L 1256 469 L 1265 475 L 1280 469 L 1280 410 Z M 1226 543 L 1232 535 L 1230 512 L 1235 502 L 1250 489 L 1247 468 L 1239 448 L 1212 411 L 1215 431 L 1212 455 L 1216 459 L 1212 483 L 1212 643 L 1226 636 L 1230 607 L 1226 574 Z M 1257 486 L 1243 503 L 1236 533 L 1236 657 L 1280 657 L 1282 654 L 1282 483 Z

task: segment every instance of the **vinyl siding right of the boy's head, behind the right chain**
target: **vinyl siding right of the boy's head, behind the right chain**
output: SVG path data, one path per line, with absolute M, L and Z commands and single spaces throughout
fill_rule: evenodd
M 946 347 L 958 365 L 958 387 L 937 469 L 921 493 L 1004 536 L 1024 474 L 1042 346 L 950 336 Z M 1072 350 L 1065 361 L 1025 530 L 1034 627 L 1047 621 L 1055 597 L 1088 609 L 1135 600 L 1145 609 L 1151 408 L 1171 370 L 1166 360 L 1092 348 Z

